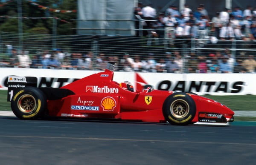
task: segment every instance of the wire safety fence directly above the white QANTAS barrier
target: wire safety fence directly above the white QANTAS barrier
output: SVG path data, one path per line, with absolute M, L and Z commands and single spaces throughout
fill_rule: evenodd
M 215 65 L 212 62 L 219 62 L 227 58 L 231 68 L 229 73 L 255 72 L 255 67 L 253 70 L 247 71 L 243 65 L 243 62 L 250 56 L 253 56 L 254 59 L 256 57 L 256 42 L 254 40 L 217 40 L 213 42 L 208 39 L 194 38 L 23 34 L 23 48 L 20 48 L 18 36 L 18 33 L 0 33 L 0 67 L 23 67 L 13 62 L 15 55 L 8 49 L 8 45 L 11 45 L 13 49 L 17 50 L 17 54 L 24 50 L 30 59 L 37 57 L 41 62 L 45 60 L 46 54 L 51 54 L 61 65 L 47 66 L 50 69 L 102 70 L 105 68 L 105 62 L 116 61 L 118 62 L 117 71 L 222 73 L 224 71 L 221 71 L 220 68 L 212 70 Z M 52 46 L 52 40 L 55 40 L 56 47 Z M 60 53 L 58 51 L 64 53 L 63 59 L 58 59 L 58 53 Z M 91 52 L 91 55 L 88 52 Z M 218 52 L 220 52 L 220 56 L 216 55 Z M 125 54 L 128 54 L 128 59 L 124 59 Z M 80 59 L 79 66 L 72 65 L 72 61 L 77 58 Z M 139 59 L 141 67 L 138 67 L 139 63 L 135 63 L 137 59 Z M 168 70 L 165 63 L 170 60 L 176 60 L 178 69 Z M 206 68 L 202 71 L 199 64 Z M 32 66 L 30 63 L 29 65 Z M 33 67 L 44 68 L 43 64 Z

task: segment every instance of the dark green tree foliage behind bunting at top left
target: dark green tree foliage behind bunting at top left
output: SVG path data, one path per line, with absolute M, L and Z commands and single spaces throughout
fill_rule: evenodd
M 46 6 L 52 9 L 59 10 L 76 10 L 77 0 L 37 0 L 36 3 L 42 6 Z M 0 3 L 1 4 L 1 3 Z M 9 1 L 5 6 L 0 7 L 1 16 L 18 17 L 17 14 L 17 0 Z M 57 34 L 75 34 L 72 28 L 76 27 L 77 13 L 55 13 L 49 10 L 41 9 L 38 6 L 32 5 L 28 0 L 22 0 L 22 16 L 23 17 L 58 17 L 61 20 L 68 21 L 70 23 L 57 20 Z M 23 18 L 23 32 L 24 33 L 38 33 L 52 34 L 53 28 L 52 19 L 24 19 Z M 18 20 L 17 18 L 0 18 L 0 31 L 4 32 L 18 32 Z

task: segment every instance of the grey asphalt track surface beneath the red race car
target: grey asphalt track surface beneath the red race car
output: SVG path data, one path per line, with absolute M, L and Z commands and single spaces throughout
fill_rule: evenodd
M 0 116 L 0 153 L 1 165 L 255 165 L 256 122 L 214 127 Z

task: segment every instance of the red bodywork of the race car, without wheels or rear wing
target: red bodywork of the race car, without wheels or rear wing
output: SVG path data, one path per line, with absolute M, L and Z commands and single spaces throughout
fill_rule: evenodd
M 48 100 L 49 116 L 166 122 L 163 115 L 163 102 L 175 92 L 152 90 L 147 93 L 141 89 L 131 92 L 113 81 L 113 74 L 113 71 L 106 69 L 104 72 L 61 87 L 75 94 L 58 100 Z M 196 94 L 187 94 L 192 97 L 196 105 L 196 114 L 191 123 L 198 122 L 198 117 L 207 116 L 205 114 L 209 113 L 215 114 L 210 115 L 209 119 L 220 114 L 227 119 L 226 123 L 231 119 L 233 121 L 234 112 L 225 105 Z

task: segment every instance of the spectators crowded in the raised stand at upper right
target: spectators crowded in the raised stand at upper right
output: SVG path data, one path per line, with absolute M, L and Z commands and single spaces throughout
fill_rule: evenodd
M 143 7 L 142 3 L 134 9 L 136 19 L 143 22 L 143 35 L 159 38 L 203 38 L 215 37 L 221 40 L 256 40 L 256 8 L 247 6 L 244 11 L 239 7 L 216 12 L 209 18 L 204 4 L 195 11 L 187 4 L 182 11 L 170 5 L 165 13 L 157 14 L 152 5 Z M 136 21 L 136 28 L 139 27 Z M 164 29 L 164 30 L 163 30 Z M 138 35 L 138 33 L 137 33 Z

